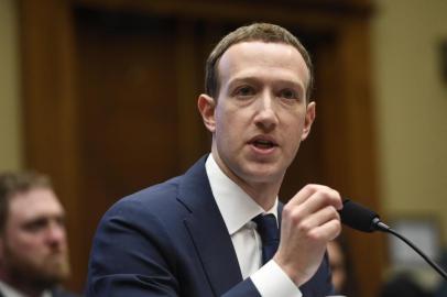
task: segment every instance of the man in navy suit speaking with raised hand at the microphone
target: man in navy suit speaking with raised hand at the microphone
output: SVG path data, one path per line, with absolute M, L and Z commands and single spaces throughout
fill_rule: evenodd
M 105 215 L 87 295 L 330 295 L 339 194 L 307 185 L 277 200 L 315 119 L 312 81 L 306 50 L 283 28 L 257 23 L 220 41 L 198 98 L 211 153 Z

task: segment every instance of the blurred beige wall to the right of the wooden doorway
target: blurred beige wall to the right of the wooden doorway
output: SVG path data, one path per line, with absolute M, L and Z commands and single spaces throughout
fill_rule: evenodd
M 382 209 L 390 220 L 433 220 L 444 246 L 447 77 L 440 47 L 447 42 L 446 12 L 444 0 L 379 0 L 371 43 Z

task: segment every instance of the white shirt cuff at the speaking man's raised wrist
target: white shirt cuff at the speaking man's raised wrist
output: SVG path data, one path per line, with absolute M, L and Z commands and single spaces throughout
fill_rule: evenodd
M 273 260 L 250 276 L 262 297 L 302 297 L 299 288 Z

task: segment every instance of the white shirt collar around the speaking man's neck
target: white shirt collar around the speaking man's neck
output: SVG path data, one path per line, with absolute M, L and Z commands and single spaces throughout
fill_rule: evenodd
M 209 154 L 205 168 L 216 204 L 230 235 L 263 212 L 273 213 L 277 221 L 277 197 L 274 206 L 269 211 L 264 211 L 260 205 L 220 169 L 212 154 Z

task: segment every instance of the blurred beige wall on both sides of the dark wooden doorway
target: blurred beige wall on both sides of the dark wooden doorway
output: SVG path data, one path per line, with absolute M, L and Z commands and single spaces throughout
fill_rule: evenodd
M 441 76 L 439 46 L 447 40 L 447 2 L 373 4 L 378 200 L 385 218 L 437 220 L 446 244 L 447 79 Z M 17 1 L 0 0 L 0 169 L 24 166 L 18 26 Z

